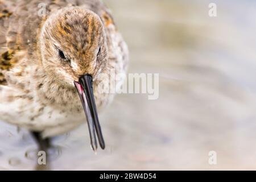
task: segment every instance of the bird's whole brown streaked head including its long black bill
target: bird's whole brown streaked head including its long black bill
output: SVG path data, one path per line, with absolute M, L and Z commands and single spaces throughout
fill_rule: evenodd
M 77 88 L 94 150 L 97 148 L 95 131 L 102 148 L 104 140 L 92 84 L 106 64 L 107 52 L 104 25 L 90 10 L 64 8 L 50 15 L 43 24 L 40 56 L 44 71 L 60 84 Z

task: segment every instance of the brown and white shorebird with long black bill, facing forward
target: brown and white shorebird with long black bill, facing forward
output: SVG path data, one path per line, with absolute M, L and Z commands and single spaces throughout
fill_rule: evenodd
M 113 93 L 100 75 L 126 73 L 129 50 L 100 0 L 0 0 L 0 121 L 30 131 L 39 150 L 87 123 L 105 148 L 98 112 Z

